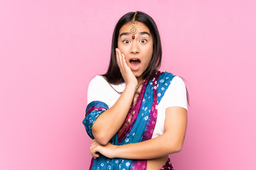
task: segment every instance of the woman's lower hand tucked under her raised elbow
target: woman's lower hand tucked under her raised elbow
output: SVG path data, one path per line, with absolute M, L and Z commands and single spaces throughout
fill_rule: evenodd
M 95 159 L 97 159 L 97 157 L 100 157 L 97 152 L 100 152 L 100 154 L 103 154 L 105 157 L 112 159 L 115 157 L 116 149 L 117 146 L 112 145 L 110 142 L 108 142 L 107 145 L 100 145 L 96 140 L 92 140 L 90 146 L 90 152 L 92 154 L 92 157 L 94 157 Z

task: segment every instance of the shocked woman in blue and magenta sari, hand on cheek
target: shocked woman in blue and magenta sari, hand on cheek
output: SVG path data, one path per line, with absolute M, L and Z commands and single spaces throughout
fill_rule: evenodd
M 112 37 L 106 74 L 90 81 L 83 124 L 92 138 L 90 169 L 173 169 L 187 123 L 186 86 L 159 72 L 161 41 L 146 13 L 127 13 Z

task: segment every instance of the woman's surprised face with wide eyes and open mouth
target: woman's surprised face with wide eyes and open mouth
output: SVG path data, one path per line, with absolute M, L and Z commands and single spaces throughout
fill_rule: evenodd
M 125 60 L 137 79 L 142 79 L 142 74 L 149 66 L 153 54 L 153 38 L 149 28 L 144 23 L 135 21 L 137 33 L 132 39 L 129 30 L 132 22 L 128 22 L 119 30 L 117 47 L 124 54 Z

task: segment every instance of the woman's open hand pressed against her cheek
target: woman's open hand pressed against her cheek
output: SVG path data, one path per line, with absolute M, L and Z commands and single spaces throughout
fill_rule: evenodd
M 138 84 L 138 80 L 132 73 L 132 70 L 128 67 L 124 54 L 121 54 L 118 48 L 116 48 L 116 57 L 117 57 L 117 65 L 120 69 L 120 72 L 122 74 L 122 77 L 126 85 L 136 87 Z

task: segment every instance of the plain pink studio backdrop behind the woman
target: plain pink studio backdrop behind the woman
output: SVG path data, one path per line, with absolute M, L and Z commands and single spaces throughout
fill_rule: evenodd
M 0 169 L 88 169 L 87 85 L 129 11 L 154 18 L 161 70 L 191 106 L 175 169 L 255 169 L 255 1 L 0 2 Z

